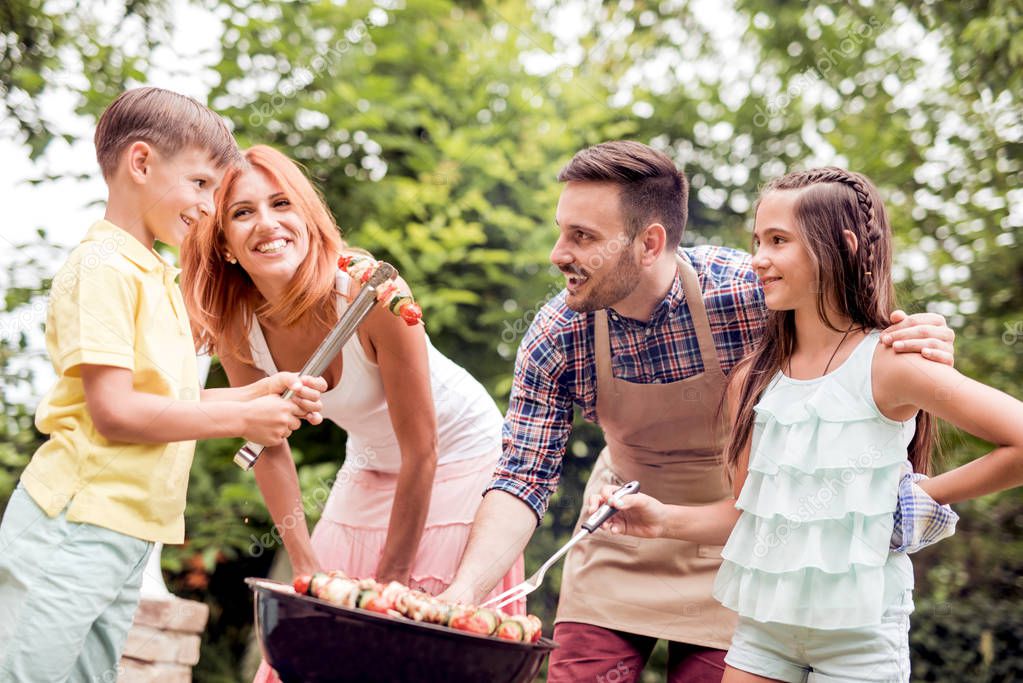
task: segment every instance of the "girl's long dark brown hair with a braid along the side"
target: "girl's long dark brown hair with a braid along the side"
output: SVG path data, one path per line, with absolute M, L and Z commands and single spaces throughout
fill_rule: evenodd
M 826 325 L 828 307 L 852 321 L 853 327 L 884 329 L 895 309 L 891 277 L 891 226 L 884 203 L 865 176 L 834 167 L 790 173 L 768 183 L 769 192 L 796 190 L 795 214 L 806 251 L 817 276 L 817 315 Z M 843 234 L 856 235 L 853 252 Z M 755 351 L 731 372 L 731 381 L 745 373 L 739 411 L 725 448 L 725 462 L 735 472 L 743 449 L 753 432 L 753 410 L 774 375 L 795 350 L 796 321 L 792 311 L 770 311 L 764 335 Z M 923 411 L 917 415 L 917 432 L 909 444 L 915 471 L 930 470 L 934 423 Z

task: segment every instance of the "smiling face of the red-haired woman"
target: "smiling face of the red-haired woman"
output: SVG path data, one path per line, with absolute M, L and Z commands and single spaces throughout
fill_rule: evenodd
M 224 203 L 227 252 L 257 286 L 286 286 L 309 254 L 309 230 L 292 197 L 272 176 L 253 169 L 238 176 Z

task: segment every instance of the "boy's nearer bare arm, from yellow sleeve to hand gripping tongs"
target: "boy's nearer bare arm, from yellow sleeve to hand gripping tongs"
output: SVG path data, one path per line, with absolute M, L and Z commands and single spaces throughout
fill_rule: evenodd
M 126 368 L 82 365 L 81 376 L 92 421 L 109 441 L 167 444 L 241 437 L 276 446 L 306 414 L 295 402 L 277 396 L 201 403 L 137 392 Z

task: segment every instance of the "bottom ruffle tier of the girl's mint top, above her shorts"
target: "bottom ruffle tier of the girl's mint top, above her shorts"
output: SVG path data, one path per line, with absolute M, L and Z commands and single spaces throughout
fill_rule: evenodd
M 860 565 L 843 574 L 813 567 L 768 574 L 725 560 L 714 581 L 714 597 L 758 622 L 852 629 L 881 623 L 887 574 L 883 566 Z

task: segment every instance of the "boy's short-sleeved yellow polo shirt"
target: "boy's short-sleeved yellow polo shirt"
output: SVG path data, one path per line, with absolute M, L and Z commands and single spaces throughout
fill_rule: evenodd
M 99 221 L 53 277 L 46 349 L 56 384 L 36 411 L 49 435 L 21 474 L 48 515 L 147 541 L 184 540 L 195 442 L 104 439 L 85 404 L 79 366 L 132 371 L 136 392 L 198 401 L 195 349 L 178 269 L 113 223 Z M 128 408 L 128 406 L 126 406 Z

